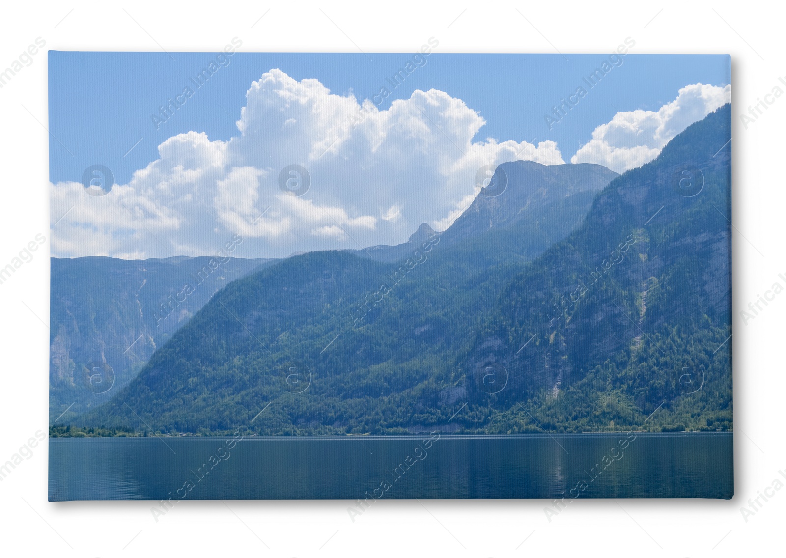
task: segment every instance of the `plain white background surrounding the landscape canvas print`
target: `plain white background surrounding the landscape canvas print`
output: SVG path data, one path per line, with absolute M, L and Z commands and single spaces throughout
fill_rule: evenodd
M 221 501 L 182 501 L 156 523 L 148 501 L 47 502 L 42 444 L 0 482 L 0 552 L 479 557 L 783 552 L 786 490 L 747 522 L 740 513 L 748 498 L 786 469 L 786 296 L 747 325 L 740 319 L 740 310 L 773 282 L 782 282 L 778 273 L 786 273 L 781 255 L 786 98 L 747 129 L 740 123 L 748 105 L 786 75 L 783 18 L 773 6 L 685 0 L 6 3 L 0 16 L 2 68 L 39 36 L 47 48 L 58 50 L 218 51 L 228 38 L 241 36 L 242 52 L 356 52 L 358 46 L 365 52 L 414 52 L 433 35 L 440 52 L 511 53 L 607 53 L 632 36 L 637 53 L 730 53 L 736 496 L 732 501 L 577 500 L 551 522 L 543 512 L 548 502 L 537 500 L 382 500 L 354 523 L 347 501 L 227 501 L 228 507 Z M 34 59 L 0 90 L 0 262 L 10 261 L 37 233 L 47 237 L 43 248 L 48 248 L 46 53 Z M 35 252 L 35 259 L 0 285 L 0 305 L 0 462 L 5 462 L 35 431 L 47 429 L 46 250 Z

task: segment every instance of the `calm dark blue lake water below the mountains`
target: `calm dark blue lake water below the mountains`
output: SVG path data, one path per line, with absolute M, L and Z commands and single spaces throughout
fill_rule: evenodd
M 733 496 L 730 432 L 51 438 L 50 501 Z

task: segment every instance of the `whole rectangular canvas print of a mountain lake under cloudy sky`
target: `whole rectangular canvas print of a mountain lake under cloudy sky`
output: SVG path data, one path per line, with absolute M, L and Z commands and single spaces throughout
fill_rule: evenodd
M 732 497 L 728 56 L 49 57 L 51 501 Z

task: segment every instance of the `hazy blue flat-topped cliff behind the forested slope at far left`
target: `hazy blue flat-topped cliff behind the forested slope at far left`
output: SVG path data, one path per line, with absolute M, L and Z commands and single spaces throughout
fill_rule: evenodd
M 127 384 L 211 296 L 270 260 L 51 259 L 50 406 L 84 410 Z

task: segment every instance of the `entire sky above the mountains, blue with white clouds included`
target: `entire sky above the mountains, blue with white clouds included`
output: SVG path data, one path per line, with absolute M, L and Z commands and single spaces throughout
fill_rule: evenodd
M 57 257 L 399 244 L 450 226 L 489 167 L 623 172 L 731 99 L 725 55 L 50 51 L 49 69 Z M 95 164 L 114 176 L 105 195 L 81 182 Z M 310 184 L 297 196 L 292 165 Z

